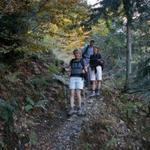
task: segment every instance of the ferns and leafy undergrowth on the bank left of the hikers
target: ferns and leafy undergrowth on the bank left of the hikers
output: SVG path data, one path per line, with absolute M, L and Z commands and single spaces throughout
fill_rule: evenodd
M 38 140 L 34 120 L 45 116 L 51 123 L 62 111 L 63 87 L 52 80 L 59 63 L 52 54 L 29 55 L 12 66 L 0 63 L 0 149 L 30 149 Z

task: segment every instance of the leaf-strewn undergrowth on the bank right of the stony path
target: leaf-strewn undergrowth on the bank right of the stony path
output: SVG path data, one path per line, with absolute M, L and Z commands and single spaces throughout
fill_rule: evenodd
M 150 147 L 149 105 L 136 94 L 103 89 L 99 117 L 83 128 L 79 149 L 120 150 Z

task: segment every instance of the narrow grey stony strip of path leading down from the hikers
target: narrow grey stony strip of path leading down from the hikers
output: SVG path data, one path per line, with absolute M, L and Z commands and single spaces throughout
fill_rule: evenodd
M 92 103 L 90 101 L 93 101 Z M 76 144 L 80 136 L 82 127 L 92 118 L 100 113 L 102 98 L 96 103 L 96 99 L 87 99 L 85 103 L 86 116 L 73 115 L 54 133 L 52 139 L 52 150 L 72 150 L 76 149 Z

